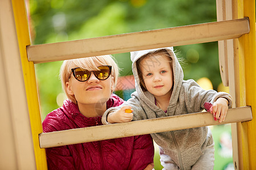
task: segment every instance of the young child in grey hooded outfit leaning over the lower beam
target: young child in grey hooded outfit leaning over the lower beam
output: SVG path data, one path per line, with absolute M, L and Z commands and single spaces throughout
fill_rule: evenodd
M 213 103 L 212 113 L 219 122 L 225 120 L 232 107 L 231 96 L 205 91 L 194 80 L 183 80 L 172 47 L 131 52 L 131 61 L 136 91 L 126 103 L 104 113 L 104 124 L 201 112 L 205 102 Z M 125 113 L 129 108 L 133 113 Z M 214 143 L 208 127 L 151 136 L 160 146 L 160 161 L 165 169 L 213 169 Z

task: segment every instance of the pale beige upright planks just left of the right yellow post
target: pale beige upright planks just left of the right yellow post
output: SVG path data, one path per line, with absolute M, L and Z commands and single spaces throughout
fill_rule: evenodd
M 217 21 L 238 18 L 237 0 L 216 0 Z M 240 106 L 238 40 L 218 41 L 218 58 L 221 80 L 224 86 L 229 86 L 229 93 L 233 98 L 233 108 Z M 242 169 L 241 122 L 231 124 L 233 163 L 235 169 Z

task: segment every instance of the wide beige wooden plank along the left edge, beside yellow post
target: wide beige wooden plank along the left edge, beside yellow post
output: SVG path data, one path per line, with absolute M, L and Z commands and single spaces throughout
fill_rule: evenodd
M 24 16 L 26 17 L 26 15 Z M 13 2 L 0 1 L 0 169 L 36 169 Z M 15 74 L 15 75 L 14 75 Z

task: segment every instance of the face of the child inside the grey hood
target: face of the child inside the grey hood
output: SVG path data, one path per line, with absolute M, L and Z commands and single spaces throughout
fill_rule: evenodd
M 174 75 L 170 57 L 163 54 L 146 57 L 141 61 L 141 71 L 147 91 L 154 96 L 171 97 Z

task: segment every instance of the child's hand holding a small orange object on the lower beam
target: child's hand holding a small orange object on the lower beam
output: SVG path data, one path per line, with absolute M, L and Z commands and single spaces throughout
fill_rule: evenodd
M 131 109 L 131 107 L 129 105 L 126 105 L 115 112 L 109 113 L 107 121 L 110 124 L 130 122 L 131 120 L 133 120 L 133 113 L 125 113 L 126 109 Z M 133 110 L 131 110 L 131 112 L 133 112 Z

